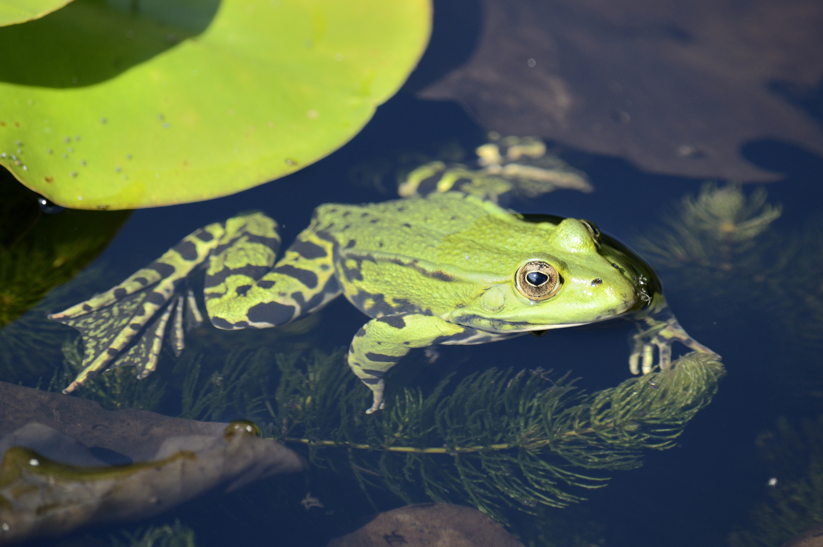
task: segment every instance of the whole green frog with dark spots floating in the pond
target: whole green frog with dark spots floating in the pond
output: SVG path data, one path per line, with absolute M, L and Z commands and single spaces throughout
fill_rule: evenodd
M 362 206 L 326 204 L 277 263 L 280 238 L 261 213 L 189 235 L 121 285 L 50 316 L 77 327 L 86 369 L 65 392 L 110 364 L 155 369 L 166 331 L 183 347 L 199 313 L 186 279 L 207 268 L 215 327 L 277 327 L 339 294 L 372 318 L 348 360 L 382 407 L 384 374 L 412 348 L 481 344 L 632 312 L 649 325 L 632 355 L 637 372 L 670 364 L 672 339 L 709 351 L 677 324 L 651 268 L 585 220 L 519 216 L 460 192 Z

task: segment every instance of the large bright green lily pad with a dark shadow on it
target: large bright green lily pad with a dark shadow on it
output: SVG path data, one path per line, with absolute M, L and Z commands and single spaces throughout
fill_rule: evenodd
M 353 137 L 430 33 L 429 0 L 76 0 L 0 28 L 0 165 L 52 202 L 196 202 Z

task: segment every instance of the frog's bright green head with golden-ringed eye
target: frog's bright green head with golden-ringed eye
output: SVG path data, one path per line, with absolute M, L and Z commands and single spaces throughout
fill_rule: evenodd
M 501 260 L 505 279 L 484 287 L 453 320 L 485 330 L 537 331 L 603 321 L 639 304 L 642 290 L 625 264 L 602 252 L 597 226 L 565 219 L 547 235 L 541 248 L 518 249 Z

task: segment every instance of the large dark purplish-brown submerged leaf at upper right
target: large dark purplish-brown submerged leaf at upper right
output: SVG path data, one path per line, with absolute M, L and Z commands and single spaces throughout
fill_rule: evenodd
M 818 0 L 482 0 L 472 59 L 421 92 L 489 130 L 621 156 L 641 169 L 766 181 L 741 155 L 773 138 L 823 155 L 780 90 L 823 76 Z

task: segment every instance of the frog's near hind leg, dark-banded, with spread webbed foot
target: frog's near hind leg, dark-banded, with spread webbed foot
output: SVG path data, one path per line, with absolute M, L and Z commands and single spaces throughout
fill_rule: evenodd
M 306 248 L 310 235 L 301 234 L 303 239 L 295 241 L 283 260 L 272 269 L 280 246 L 274 220 L 261 213 L 252 213 L 208 225 L 184 238 L 120 285 L 62 313 L 53 313 L 49 318 L 81 331 L 85 345 L 83 370 L 63 392 L 74 391 L 110 366 L 134 365 L 138 378 L 145 378 L 156 369 L 167 333 L 174 353 L 179 355 L 184 349 L 184 332 L 202 322 L 186 279 L 205 262 L 209 263 L 206 305 L 215 327 L 273 327 L 327 303 L 339 294 L 330 266 L 331 249 L 321 249 L 327 256 L 326 269 L 313 262 L 319 256 L 306 258 L 300 255 L 300 249 Z M 331 243 L 325 244 L 331 246 Z M 298 250 L 293 251 L 295 248 Z M 319 255 L 319 252 L 314 254 Z M 323 275 L 317 276 L 324 280 L 319 289 L 304 283 L 313 285 L 307 276 L 295 277 L 297 268 L 292 264 L 302 262 L 309 262 L 323 271 Z M 271 290 L 275 284 L 280 291 Z M 275 294 L 275 298 L 264 298 L 268 296 L 267 290 Z M 244 298 L 249 292 L 259 299 L 249 301 Z M 282 315 L 277 321 L 249 320 L 249 316 L 257 318 L 260 315 L 260 308 L 258 312 L 253 311 L 257 304 L 266 308 L 268 302 L 284 293 L 289 293 L 284 299 L 284 307 L 300 305 L 300 308 L 291 308 L 290 317 Z M 245 318 L 241 320 L 238 316 Z

